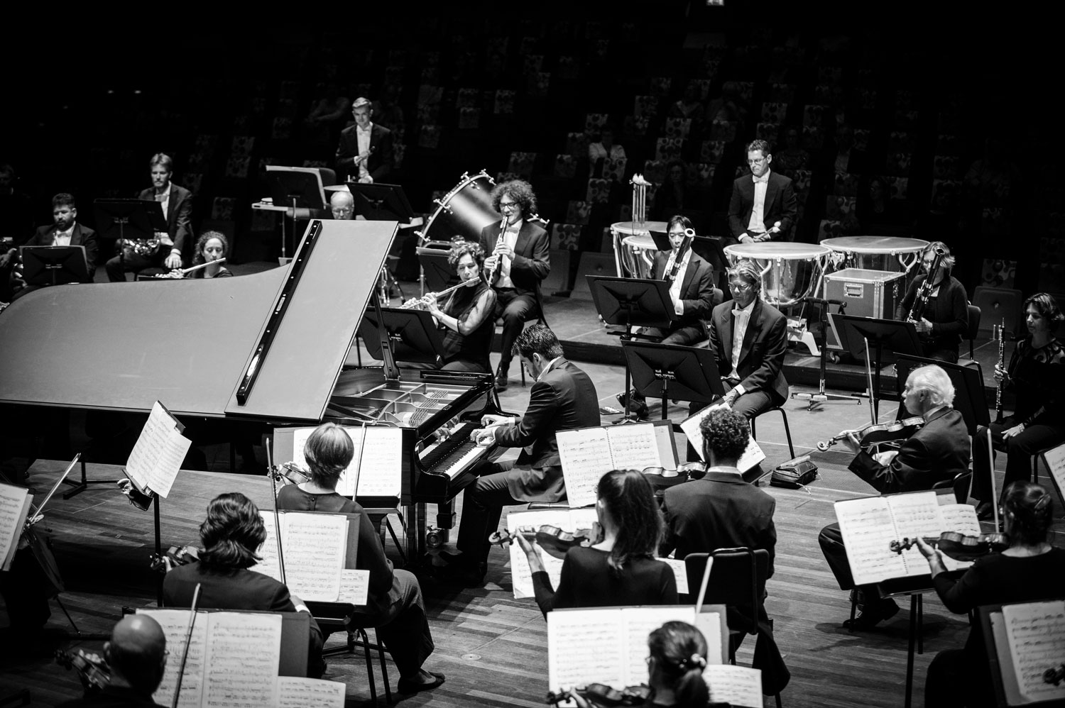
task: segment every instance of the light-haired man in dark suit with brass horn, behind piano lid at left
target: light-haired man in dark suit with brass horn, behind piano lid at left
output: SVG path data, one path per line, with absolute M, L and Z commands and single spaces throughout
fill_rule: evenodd
M 166 217 L 166 231 L 157 231 L 159 246 L 147 256 L 126 249 L 104 264 L 111 282 L 124 282 L 127 273 L 161 275 L 180 268 L 185 245 L 192 241 L 193 193 L 170 182 L 174 161 L 160 152 L 151 158 L 151 186 L 141 192 L 137 199 L 160 201 Z

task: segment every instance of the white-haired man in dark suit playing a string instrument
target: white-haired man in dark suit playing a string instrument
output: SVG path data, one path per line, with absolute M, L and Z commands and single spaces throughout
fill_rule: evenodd
M 953 479 L 969 468 L 969 435 L 962 414 L 951 408 L 954 385 L 941 366 L 929 364 L 913 369 L 902 392 L 906 410 L 924 418 L 924 424 L 903 441 L 898 451 L 876 452 L 863 449 L 855 431 L 845 444 L 856 452 L 850 471 L 869 482 L 881 494 L 918 492 L 932 489 L 938 481 Z M 856 588 L 847 560 L 847 548 L 839 524 L 830 524 L 818 537 L 821 551 L 841 590 L 858 593 L 862 613 L 843 623 L 853 629 L 871 629 L 881 620 L 899 611 L 892 599 L 874 599 L 868 588 Z

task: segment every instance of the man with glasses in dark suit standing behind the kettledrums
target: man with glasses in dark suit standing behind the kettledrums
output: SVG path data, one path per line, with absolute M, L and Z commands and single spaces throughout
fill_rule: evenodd
M 740 243 L 786 238 L 799 215 L 791 180 L 771 170 L 772 161 L 766 141 L 747 146 L 751 174 L 736 179 L 728 202 L 728 230 Z

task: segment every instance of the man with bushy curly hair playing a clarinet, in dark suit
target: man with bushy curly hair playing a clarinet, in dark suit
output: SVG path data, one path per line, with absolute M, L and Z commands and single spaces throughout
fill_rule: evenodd
M 488 253 L 485 269 L 492 274 L 495 291 L 494 317 L 503 317 L 503 342 L 495 384 L 507 388 L 511 349 L 525 320 L 540 314 L 540 281 L 551 271 L 547 232 L 528 217 L 536 213 L 536 194 L 522 180 L 497 184 L 492 190 L 492 209 L 503 214 L 501 221 L 480 232 L 480 247 Z

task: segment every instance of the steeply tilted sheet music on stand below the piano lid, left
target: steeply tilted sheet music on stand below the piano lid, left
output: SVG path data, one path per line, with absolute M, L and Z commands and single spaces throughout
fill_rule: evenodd
M 126 462 L 126 476 L 141 492 L 155 493 L 164 499 L 170 493 L 181 461 L 192 445 L 192 441 L 181 434 L 184 429 L 157 400 Z

